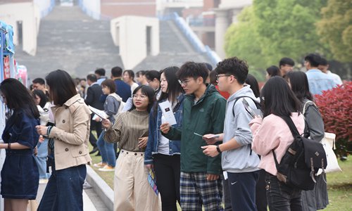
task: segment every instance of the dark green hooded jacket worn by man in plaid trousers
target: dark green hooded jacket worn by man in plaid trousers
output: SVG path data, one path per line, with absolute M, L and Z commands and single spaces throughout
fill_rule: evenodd
M 204 155 L 201 146 L 206 141 L 197 134 L 220 134 L 224 129 L 226 100 L 208 84 L 205 93 L 194 103 L 194 95 L 186 95 L 183 101 L 182 127 L 171 127 L 168 134 L 172 140 L 181 140 L 181 171 L 220 174 L 221 155 L 215 158 Z

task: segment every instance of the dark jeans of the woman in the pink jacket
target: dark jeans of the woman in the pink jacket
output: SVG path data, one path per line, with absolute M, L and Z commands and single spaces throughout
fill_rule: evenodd
M 300 189 L 287 186 L 268 172 L 265 175 L 265 183 L 270 211 L 302 210 Z

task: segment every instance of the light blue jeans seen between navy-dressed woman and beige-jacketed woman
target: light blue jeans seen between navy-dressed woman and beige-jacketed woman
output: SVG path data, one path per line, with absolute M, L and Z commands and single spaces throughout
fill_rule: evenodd
M 39 179 L 49 179 L 50 174 L 46 173 L 46 157 L 48 156 L 48 141 L 49 139 L 44 139 L 42 143 L 38 141 L 37 150 L 38 155 L 34 157 L 35 162 L 37 162 L 39 170 Z

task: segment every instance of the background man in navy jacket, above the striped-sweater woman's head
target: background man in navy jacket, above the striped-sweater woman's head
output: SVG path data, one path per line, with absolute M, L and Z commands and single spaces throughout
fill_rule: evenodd
M 111 69 L 111 79 L 116 85 L 116 94 L 122 98 L 122 101 L 126 102 L 131 97 L 131 87 L 122 81 L 122 69 L 118 66 Z

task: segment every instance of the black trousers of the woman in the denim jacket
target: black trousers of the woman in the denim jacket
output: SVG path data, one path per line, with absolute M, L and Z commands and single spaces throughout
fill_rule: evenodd
M 163 211 L 177 211 L 180 204 L 180 155 L 153 155 L 156 185 Z

